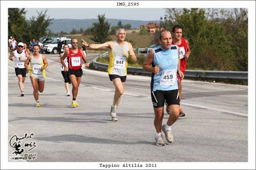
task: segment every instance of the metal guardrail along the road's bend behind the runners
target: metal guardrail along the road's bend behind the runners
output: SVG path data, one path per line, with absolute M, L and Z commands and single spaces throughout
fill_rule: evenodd
M 145 49 L 140 49 L 140 50 L 143 51 Z M 97 58 L 94 58 L 92 60 L 93 65 L 99 68 L 108 69 L 108 64 L 99 63 L 97 61 L 98 58 L 103 58 L 105 56 L 108 56 L 108 52 L 105 52 L 99 55 Z M 128 66 L 127 71 L 134 72 L 134 73 L 145 73 L 145 74 L 151 75 L 150 72 L 146 72 L 145 70 L 143 70 L 142 67 Z M 185 70 L 185 77 L 248 80 L 248 72 Z

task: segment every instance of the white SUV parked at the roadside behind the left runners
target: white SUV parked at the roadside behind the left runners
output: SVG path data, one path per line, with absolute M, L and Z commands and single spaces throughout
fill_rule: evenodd
M 71 38 L 60 39 L 59 41 L 62 42 L 62 47 L 64 46 L 65 43 L 67 45 L 69 45 L 69 48 L 72 47 L 71 46 Z M 62 52 L 63 51 L 64 50 L 62 49 Z M 53 54 L 57 54 L 58 53 L 58 41 L 54 41 L 54 42 L 44 45 L 44 52 L 46 52 L 46 54 L 49 54 L 50 52 L 53 52 Z

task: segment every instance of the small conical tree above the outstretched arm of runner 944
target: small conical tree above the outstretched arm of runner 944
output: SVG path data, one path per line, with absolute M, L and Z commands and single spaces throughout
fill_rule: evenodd
M 108 37 L 110 24 L 108 21 L 105 21 L 105 19 L 105 14 L 98 15 L 98 22 L 93 22 L 90 27 L 90 33 L 92 34 L 90 39 L 94 42 L 105 43 L 111 40 L 111 38 Z

